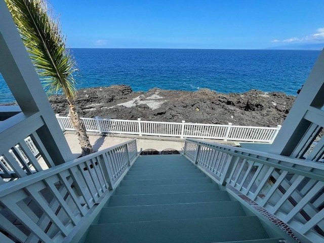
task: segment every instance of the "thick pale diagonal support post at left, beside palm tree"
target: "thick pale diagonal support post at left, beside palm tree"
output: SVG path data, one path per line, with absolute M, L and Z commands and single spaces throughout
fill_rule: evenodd
M 4 1 L 0 1 L 0 72 L 23 113 L 36 113 L 45 125 L 38 136 L 55 164 L 73 159 L 50 102 Z

